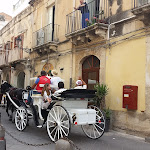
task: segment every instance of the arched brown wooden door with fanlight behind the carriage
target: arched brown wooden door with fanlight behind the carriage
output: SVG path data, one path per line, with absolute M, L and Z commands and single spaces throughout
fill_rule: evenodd
M 88 89 L 94 89 L 94 85 L 99 82 L 100 60 L 96 56 L 89 56 L 82 64 L 82 78 L 86 82 Z

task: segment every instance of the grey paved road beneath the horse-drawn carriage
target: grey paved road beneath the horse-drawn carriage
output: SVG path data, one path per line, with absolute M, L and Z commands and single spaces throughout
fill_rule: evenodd
M 2 124 L 6 130 L 14 135 L 17 139 L 32 144 L 42 144 L 50 142 L 47 135 L 46 128 L 37 129 L 34 127 L 33 122 L 25 131 L 17 131 L 15 124 L 8 121 L 5 109 L 0 107 L 2 113 Z M 81 150 L 150 150 L 150 144 L 145 143 L 144 139 L 121 134 L 111 131 L 105 133 L 103 137 L 98 140 L 91 140 L 87 138 L 79 127 L 72 127 L 72 132 L 69 139 L 71 139 Z M 32 147 L 23 145 L 6 134 L 7 150 L 54 150 L 55 144 Z

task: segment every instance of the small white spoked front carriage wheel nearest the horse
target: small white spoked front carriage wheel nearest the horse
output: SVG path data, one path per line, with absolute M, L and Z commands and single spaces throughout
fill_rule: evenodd
M 24 107 L 16 109 L 15 124 L 19 131 L 23 131 L 28 124 L 28 113 Z

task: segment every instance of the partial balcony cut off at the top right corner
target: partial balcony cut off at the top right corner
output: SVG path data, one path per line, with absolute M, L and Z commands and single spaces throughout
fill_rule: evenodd
M 150 25 L 150 0 L 133 0 L 132 13 L 145 25 Z

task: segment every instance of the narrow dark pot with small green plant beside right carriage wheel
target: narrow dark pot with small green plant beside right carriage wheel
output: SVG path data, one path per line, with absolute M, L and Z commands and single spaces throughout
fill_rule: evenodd
M 108 132 L 110 128 L 111 110 L 108 107 L 107 109 L 104 109 L 104 112 L 105 112 L 105 132 Z

